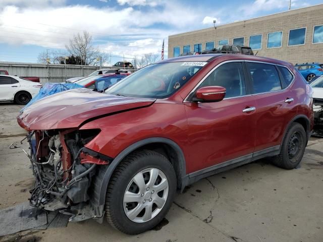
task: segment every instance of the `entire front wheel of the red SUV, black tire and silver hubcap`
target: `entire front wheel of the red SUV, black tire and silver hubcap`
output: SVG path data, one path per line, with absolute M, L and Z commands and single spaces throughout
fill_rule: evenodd
M 151 175 L 156 179 L 150 184 Z M 174 168 L 164 155 L 150 150 L 128 155 L 114 171 L 107 188 L 104 208 L 107 221 L 127 234 L 138 234 L 153 228 L 169 211 L 176 186 Z M 164 187 L 158 192 L 157 189 Z M 135 198 L 128 197 L 126 191 Z M 136 202 L 129 202 L 132 200 Z M 149 208 L 152 213 L 149 213 Z

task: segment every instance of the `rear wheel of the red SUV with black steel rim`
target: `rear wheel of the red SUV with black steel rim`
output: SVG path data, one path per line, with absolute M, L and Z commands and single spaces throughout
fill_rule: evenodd
M 273 163 L 284 169 L 294 169 L 303 158 L 306 144 L 303 126 L 293 123 L 286 132 L 280 154 L 272 158 Z

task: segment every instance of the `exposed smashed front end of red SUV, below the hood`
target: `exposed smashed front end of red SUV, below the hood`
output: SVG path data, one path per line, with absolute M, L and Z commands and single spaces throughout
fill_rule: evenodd
M 70 221 L 102 218 L 97 204 L 97 173 L 112 158 L 84 147 L 99 129 L 32 131 L 27 135 L 31 169 L 36 178 L 30 191 L 30 205 L 71 215 Z M 18 148 L 12 146 L 11 148 Z

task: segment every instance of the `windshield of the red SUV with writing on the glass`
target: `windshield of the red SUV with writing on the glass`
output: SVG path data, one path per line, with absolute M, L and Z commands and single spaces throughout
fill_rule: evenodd
M 128 97 L 165 98 L 187 83 L 206 62 L 172 62 L 147 66 L 105 93 Z

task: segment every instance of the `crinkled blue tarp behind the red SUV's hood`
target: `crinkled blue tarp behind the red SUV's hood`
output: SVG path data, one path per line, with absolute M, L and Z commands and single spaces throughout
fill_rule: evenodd
M 81 86 L 76 83 L 45 83 L 45 85 L 39 90 L 38 94 L 28 102 L 26 106 L 24 106 L 21 110 L 24 108 L 30 106 L 34 102 L 37 102 L 39 99 L 50 96 L 55 93 L 64 92 L 70 89 L 74 88 L 82 88 L 84 86 Z

